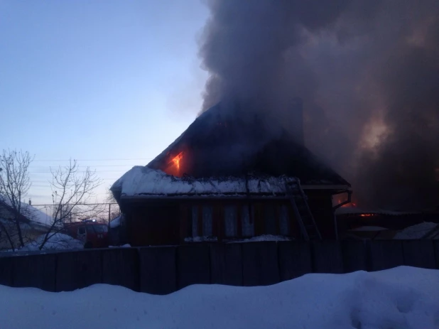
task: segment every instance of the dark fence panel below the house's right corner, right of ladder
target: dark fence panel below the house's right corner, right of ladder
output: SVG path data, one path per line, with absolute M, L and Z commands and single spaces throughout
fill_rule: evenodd
M 313 241 L 311 246 L 313 250 L 313 270 L 315 273 L 344 273 L 340 241 Z

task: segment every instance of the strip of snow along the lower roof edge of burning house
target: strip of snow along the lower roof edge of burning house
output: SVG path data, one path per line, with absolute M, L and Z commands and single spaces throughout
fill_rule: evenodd
M 285 193 L 285 183 L 294 178 L 229 177 L 224 179 L 189 179 L 167 175 L 163 171 L 144 166 L 135 166 L 112 186 L 121 190 L 121 195 L 246 195 Z

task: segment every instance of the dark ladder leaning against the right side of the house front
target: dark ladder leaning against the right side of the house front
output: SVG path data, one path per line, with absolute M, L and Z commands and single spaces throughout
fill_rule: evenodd
M 306 241 L 313 239 L 321 240 L 322 236 L 308 206 L 308 197 L 300 186 L 300 180 L 296 178 L 296 180 L 287 181 L 285 183 L 285 190 L 286 195 L 291 201 L 291 205 L 293 205 L 294 215 L 296 215 L 303 238 Z

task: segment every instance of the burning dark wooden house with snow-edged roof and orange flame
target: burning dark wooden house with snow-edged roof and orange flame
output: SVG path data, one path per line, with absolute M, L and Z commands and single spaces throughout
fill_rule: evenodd
M 264 112 L 243 108 L 208 109 L 147 166 L 114 183 L 126 242 L 335 239 L 332 195 L 350 195 L 350 185 L 303 145 L 300 99 L 285 125 L 293 129 L 274 131 Z

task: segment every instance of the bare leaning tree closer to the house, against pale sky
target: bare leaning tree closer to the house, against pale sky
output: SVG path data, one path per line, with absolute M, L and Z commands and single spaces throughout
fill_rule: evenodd
M 43 249 L 48 240 L 63 230 L 66 222 L 71 222 L 80 217 L 92 217 L 102 212 L 101 205 L 88 205 L 93 197 L 94 189 L 101 184 L 95 171 L 89 167 L 80 171 L 76 160 L 70 160 L 69 164 L 52 173 L 53 220 L 50 229 L 45 234 L 39 249 Z

